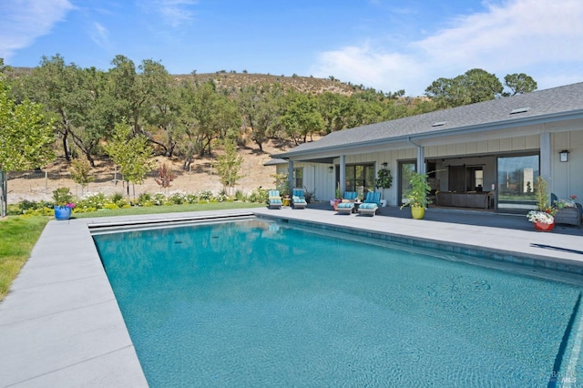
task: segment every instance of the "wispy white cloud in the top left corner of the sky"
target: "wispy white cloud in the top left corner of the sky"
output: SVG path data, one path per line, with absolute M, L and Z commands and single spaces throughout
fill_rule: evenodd
M 32 45 L 73 9 L 68 0 L 10 0 L 0 4 L 0 57 Z

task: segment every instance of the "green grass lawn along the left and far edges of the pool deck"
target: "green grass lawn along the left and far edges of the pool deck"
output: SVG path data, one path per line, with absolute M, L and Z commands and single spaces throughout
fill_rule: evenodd
M 88 213 L 74 213 L 73 218 L 134 216 L 140 214 L 178 213 L 184 211 L 209 211 L 228 209 L 249 209 L 264 207 L 264 203 L 216 202 L 192 205 L 151 206 L 127 209 L 100 209 Z M 10 289 L 18 272 L 30 257 L 30 252 L 52 217 L 11 216 L 0 219 L 0 301 Z

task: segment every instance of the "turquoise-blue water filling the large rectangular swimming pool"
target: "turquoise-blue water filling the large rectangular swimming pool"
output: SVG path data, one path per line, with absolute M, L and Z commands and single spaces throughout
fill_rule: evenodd
M 583 382 L 579 285 L 328 234 L 247 220 L 95 235 L 150 386 Z

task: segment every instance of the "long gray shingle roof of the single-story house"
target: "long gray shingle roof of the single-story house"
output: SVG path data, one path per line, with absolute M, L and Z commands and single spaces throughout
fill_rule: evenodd
M 513 109 L 527 107 L 527 111 L 511 114 Z M 304 143 L 290 151 L 277 155 L 302 155 L 318 149 L 354 146 L 359 143 L 387 141 L 391 139 L 439 136 L 471 128 L 511 127 L 528 121 L 557 119 L 567 114 L 583 114 L 583 82 L 539 90 L 514 97 L 502 97 L 464 107 L 438 110 L 423 115 L 398 118 L 358 128 L 344 129 L 312 143 Z M 555 117 L 555 118 L 554 118 Z M 436 123 L 443 125 L 435 126 Z

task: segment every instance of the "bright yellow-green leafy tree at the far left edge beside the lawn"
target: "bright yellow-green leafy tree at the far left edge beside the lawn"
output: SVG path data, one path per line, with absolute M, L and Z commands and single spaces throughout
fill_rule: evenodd
M 0 214 L 6 215 L 6 174 L 43 167 L 55 158 L 53 120 L 29 100 L 16 104 L 0 77 Z

